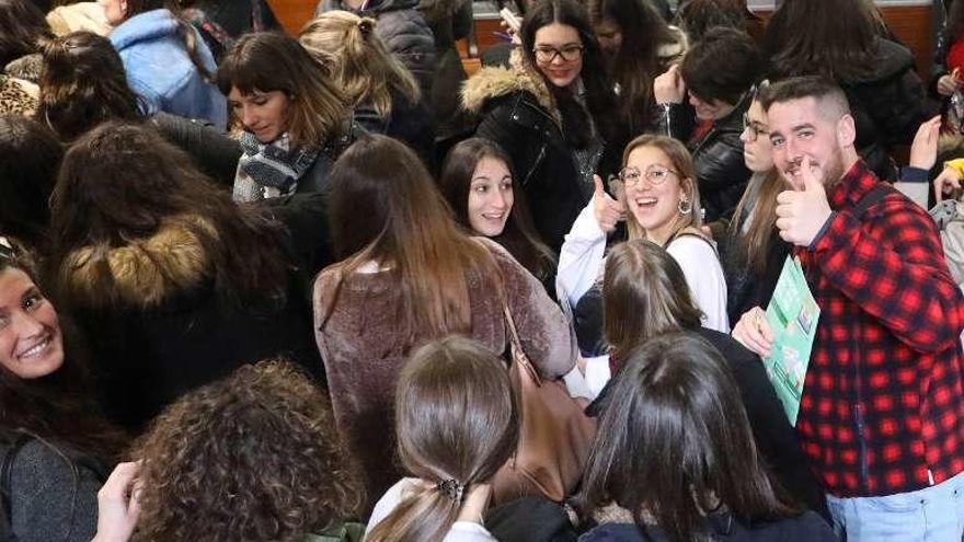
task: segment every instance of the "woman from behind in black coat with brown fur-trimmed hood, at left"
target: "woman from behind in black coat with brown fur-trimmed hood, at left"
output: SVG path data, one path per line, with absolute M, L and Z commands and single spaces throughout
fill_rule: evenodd
M 274 208 L 238 206 L 145 125 L 105 123 L 70 147 L 48 267 L 115 420 L 139 430 L 183 393 L 266 357 L 320 376 L 298 257 L 299 240 L 324 231 L 318 198 L 286 223 Z

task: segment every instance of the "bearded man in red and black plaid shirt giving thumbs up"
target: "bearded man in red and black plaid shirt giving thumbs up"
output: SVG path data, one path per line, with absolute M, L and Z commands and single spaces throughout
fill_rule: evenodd
M 847 97 L 797 78 L 767 88 L 773 161 L 792 189 L 777 228 L 820 307 L 796 428 L 853 541 L 954 541 L 964 526 L 964 299 L 927 212 L 859 159 Z M 873 199 L 861 199 L 871 194 Z M 864 207 L 861 211 L 859 207 Z M 733 336 L 768 355 L 765 313 Z

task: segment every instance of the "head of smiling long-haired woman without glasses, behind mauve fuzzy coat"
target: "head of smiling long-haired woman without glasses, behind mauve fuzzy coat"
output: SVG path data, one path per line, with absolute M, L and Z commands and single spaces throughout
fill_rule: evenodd
M 487 139 L 469 138 L 445 159 L 438 183 L 456 221 L 501 244 L 548 290 L 554 290 L 555 256 L 539 239 L 525 192 L 508 154 Z

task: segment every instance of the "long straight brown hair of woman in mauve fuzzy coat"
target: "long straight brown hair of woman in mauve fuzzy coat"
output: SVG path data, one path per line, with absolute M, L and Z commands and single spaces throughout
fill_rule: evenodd
M 462 233 L 415 152 L 379 135 L 356 141 L 332 168 L 329 220 L 340 263 L 326 292 L 323 328 L 343 284 L 364 264 L 387 268 L 401 291 L 401 325 L 409 338 L 468 333 L 472 314 L 469 276 L 495 280 L 494 261 Z

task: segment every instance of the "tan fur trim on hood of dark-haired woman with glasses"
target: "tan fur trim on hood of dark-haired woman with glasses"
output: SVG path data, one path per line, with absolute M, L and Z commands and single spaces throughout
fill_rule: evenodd
M 462 83 L 462 108 L 479 114 L 489 100 L 515 92 L 528 92 L 536 97 L 539 105 L 559 119 L 552 94 L 542 78 L 527 70 L 510 68 L 482 68 Z

